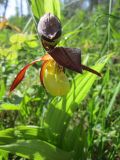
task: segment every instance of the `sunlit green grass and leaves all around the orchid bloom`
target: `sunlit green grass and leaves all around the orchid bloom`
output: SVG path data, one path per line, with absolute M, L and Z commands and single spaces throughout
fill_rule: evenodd
M 23 1 L 0 29 L 0 159 L 120 159 L 120 1 Z M 6 16 L 9 0 L 0 1 Z M 17 1 L 16 1 L 17 4 Z M 36 25 L 52 12 L 63 26 L 59 46 L 81 48 L 82 63 L 103 77 L 67 70 L 71 90 L 52 97 L 39 82 L 40 63 L 8 97 L 25 64 L 45 54 Z M 95 81 L 96 80 L 96 81 Z

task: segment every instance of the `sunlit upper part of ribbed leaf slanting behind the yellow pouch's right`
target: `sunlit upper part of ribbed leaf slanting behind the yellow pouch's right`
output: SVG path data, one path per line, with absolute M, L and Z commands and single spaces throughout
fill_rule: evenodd
M 95 66 L 91 67 L 100 72 L 111 55 L 102 57 Z M 66 110 L 72 114 L 74 103 L 80 104 L 87 96 L 94 81 L 99 79 L 98 76 L 90 72 L 85 72 L 82 75 L 77 75 L 72 83 L 71 91 L 66 96 Z

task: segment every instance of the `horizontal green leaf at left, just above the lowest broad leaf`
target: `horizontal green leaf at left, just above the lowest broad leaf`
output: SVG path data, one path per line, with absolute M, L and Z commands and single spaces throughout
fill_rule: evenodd
M 49 140 L 49 135 L 46 135 L 46 129 L 37 126 L 18 126 L 0 131 L 0 144 L 15 143 L 18 139 L 41 139 Z

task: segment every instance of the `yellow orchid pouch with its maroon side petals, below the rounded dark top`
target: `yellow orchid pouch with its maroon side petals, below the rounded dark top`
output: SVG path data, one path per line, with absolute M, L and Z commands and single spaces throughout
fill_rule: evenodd
M 81 54 L 79 49 L 56 47 L 49 52 L 49 54 L 27 64 L 16 76 L 10 87 L 10 92 L 12 92 L 23 80 L 27 69 L 39 61 L 43 61 L 40 71 L 41 83 L 53 96 L 66 95 L 70 89 L 70 83 L 64 73 L 64 68 L 68 68 L 79 73 L 82 73 L 82 70 L 88 70 L 89 72 L 101 76 L 97 71 L 80 64 L 80 60 Z

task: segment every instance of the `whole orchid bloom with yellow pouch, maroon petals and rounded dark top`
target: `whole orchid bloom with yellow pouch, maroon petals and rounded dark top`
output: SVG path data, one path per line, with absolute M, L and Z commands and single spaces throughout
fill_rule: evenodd
M 40 71 L 41 84 L 53 96 L 63 96 L 70 90 L 69 80 L 64 72 L 65 68 L 82 73 L 87 70 L 101 76 L 97 71 L 81 64 L 81 51 L 77 48 L 55 47 L 60 40 L 61 24 L 57 17 L 45 14 L 38 24 L 43 47 L 48 54 L 27 64 L 16 76 L 10 92 L 23 80 L 27 69 L 36 62 L 42 61 Z

